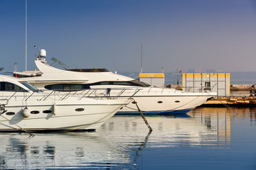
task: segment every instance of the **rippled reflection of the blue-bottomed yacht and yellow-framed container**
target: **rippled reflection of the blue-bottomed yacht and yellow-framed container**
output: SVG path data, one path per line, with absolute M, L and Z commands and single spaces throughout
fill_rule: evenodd
M 196 108 L 186 116 L 159 115 L 146 119 L 153 129 L 146 147 L 230 145 L 230 111 L 226 108 Z M 135 147 L 144 141 L 148 129 L 139 116 L 114 116 L 99 130 L 117 145 Z

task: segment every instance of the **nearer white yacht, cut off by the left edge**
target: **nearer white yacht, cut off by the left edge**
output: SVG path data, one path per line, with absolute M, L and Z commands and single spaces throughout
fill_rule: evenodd
M 95 130 L 131 99 L 45 93 L 26 81 L 0 76 L 0 131 Z

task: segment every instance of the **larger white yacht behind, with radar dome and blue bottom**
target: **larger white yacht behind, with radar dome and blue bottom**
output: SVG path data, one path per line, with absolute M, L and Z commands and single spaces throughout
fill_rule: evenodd
M 14 77 L 21 77 L 42 90 L 79 90 L 84 94 L 100 95 L 92 89 L 107 88 L 108 96 L 117 95 L 120 91 L 114 90 L 116 88 L 136 91 L 133 96 L 134 102 L 122 107 L 117 113 L 137 114 L 139 113 L 137 106 L 144 114 L 188 113 L 193 108 L 201 106 L 209 98 L 216 96 L 215 93 L 206 91 L 186 93 L 175 89 L 149 86 L 130 77 L 112 73 L 107 69 L 57 69 L 46 63 L 46 50 L 43 49 L 36 56 L 35 62 L 39 71 L 14 72 Z M 134 91 L 124 90 L 119 96 L 132 96 Z

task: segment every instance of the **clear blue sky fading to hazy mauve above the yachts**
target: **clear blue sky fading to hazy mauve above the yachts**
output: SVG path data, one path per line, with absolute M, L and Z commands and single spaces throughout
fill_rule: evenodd
M 25 69 L 25 0 L 0 0 L 0 56 Z M 28 70 L 34 45 L 70 68 L 139 72 L 256 71 L 256 1 L 28 0 Z M 38 51 L 37 51 L 38 52 Z

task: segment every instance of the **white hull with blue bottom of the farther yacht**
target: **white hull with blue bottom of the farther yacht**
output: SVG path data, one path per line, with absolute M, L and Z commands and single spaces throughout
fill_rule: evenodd
M 144 114 L 186 114 L 197 106 L 201 106 L 208 98 L 208 94 L 194 94 L 191 96 L 134 96 L 134 101 Z M 135 102 L 121 108 L 117 114 L 139 114 Z

